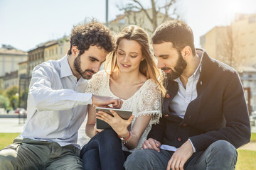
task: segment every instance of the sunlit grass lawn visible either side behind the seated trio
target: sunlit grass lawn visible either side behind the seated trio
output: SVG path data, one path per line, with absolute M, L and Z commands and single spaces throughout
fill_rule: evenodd
M 0 149 L 10 145 L 19 133 L 0 133 Z M 252 133 L 251 142 L 256 142 L 256 134 Z M 256 151 L 238 149 L 236 170 L 256 169 Z

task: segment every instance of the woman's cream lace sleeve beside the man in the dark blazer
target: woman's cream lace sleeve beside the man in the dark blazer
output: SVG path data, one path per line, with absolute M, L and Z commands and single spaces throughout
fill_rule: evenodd
M 139 115 L 153 115 L 150 124 L 159 123 L 161 117 L 161 91 L 157 88 L 157 84 L 149 79 L 148 84 L 142 91 L 139 97 L 139 108 L 137 116 Z

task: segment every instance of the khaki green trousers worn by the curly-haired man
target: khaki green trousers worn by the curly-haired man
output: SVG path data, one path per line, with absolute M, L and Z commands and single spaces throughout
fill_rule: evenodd
M 80 149 L 60 147 L 46 142 L 16 137 L 14 143 L 0 150 L 1 170 L 10 169 L 82 169 Z

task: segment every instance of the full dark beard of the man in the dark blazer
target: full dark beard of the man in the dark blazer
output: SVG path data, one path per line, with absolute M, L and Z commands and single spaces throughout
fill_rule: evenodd
M 171 69 L 171 72 L 164 74 L 164 78 L 167 80 L 174 80 L 181 76 L 184 69 L 186 69 L 186 66 L 186 60 L 183 59 L 181 52 L 178 52 L 178 61 L 176 62 L 174 69 L 171 69 L 170 67 L 164 67 L 161 68 L 161 70 Z

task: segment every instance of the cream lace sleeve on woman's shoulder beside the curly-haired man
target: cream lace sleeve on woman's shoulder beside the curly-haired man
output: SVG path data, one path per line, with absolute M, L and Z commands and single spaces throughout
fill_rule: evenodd
M 90 79 L 89 83 L 87 84 L 85 93 L 99 95 L 100 87 L 102 86 L 102 82 L 104 82 L 104 74 L 105 70 L 102 70 L 93 75 L 92 79 Z

